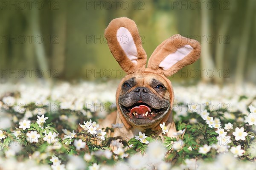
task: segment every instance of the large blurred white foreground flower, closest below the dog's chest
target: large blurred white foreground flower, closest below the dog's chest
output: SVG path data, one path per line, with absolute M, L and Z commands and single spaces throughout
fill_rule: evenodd
M 155 164 L 162 161 L 166 151 L 166 147 L 164 147 L 162 143 L 154 141 L 148 145 L 146 153 L 149 156 L 149 161 Z

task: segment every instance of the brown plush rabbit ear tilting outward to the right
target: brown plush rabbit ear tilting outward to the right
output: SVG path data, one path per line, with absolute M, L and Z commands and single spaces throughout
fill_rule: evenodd
M 198 60 L 200 53 L 201 46 L 198 41 L 179 34 L 173 35 L 154 50 L 148 60 L 148 69 L 169 77 Z

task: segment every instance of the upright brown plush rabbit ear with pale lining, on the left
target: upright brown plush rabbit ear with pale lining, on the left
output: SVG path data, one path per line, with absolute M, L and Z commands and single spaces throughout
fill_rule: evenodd
M 105 29 L 105 37 L 111 53 L 127 74 L 145 68 L 147 55 L 133 20 L 126 17 L 112 20 Z

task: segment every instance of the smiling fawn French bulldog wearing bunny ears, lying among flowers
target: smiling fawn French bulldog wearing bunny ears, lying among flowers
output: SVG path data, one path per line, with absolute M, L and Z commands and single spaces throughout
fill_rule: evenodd
M 112 136 L 129 140 L 147 129 L 161 136 L 160 124 L 165 123 L 168 131 L 165 135 L 174 136 L 174 92 L 167 77 L 199 59 L 200 43 L 173 35 L 154 50 L 146 68 L 147 55 L 133 20 L 126 17 L 112 20 L 105 29 L 105 37 L 113 57 L 127 75 L 116 91 L 117 111 L 109 114 L 102 126 L 123 124 L 115 128 Z

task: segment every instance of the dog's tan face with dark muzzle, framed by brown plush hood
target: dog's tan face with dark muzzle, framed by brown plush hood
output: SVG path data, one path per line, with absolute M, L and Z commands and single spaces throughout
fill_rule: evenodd
M 170 111 L 169 85 L 157 74 L 134 75 L 121 82 L 119 108 L 131 125 L 154 125 Z

